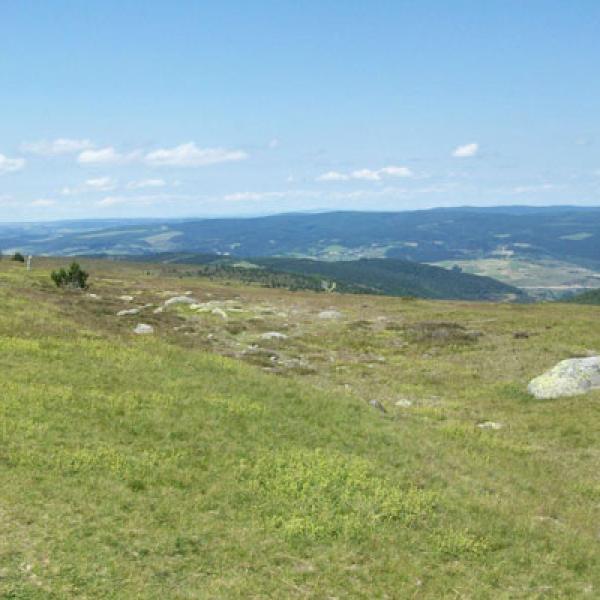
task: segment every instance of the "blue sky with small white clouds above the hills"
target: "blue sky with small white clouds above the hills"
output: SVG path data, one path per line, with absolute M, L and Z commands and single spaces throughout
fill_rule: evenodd
M 597 0 L 0 7 L 0 220 L 600 204 Z

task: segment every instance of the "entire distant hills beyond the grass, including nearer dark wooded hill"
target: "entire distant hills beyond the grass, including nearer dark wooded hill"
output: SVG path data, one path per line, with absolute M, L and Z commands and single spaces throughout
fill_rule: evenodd
M 315 276 L 335 279 L 346 291 L 490 299 L 522 298 L 517 290 L 521 287 L 533 297 L 554 299 L 600 287 L 600 208 L 462 207 L 0 224 L 0 250 L 148 259 L 171 253 L 194 261 L 202 254 L 211 261 L 215 256 L 232 256 L 288 273 L 287 279 L 278 276 L 279 280 L 289 280 L 295 273 L 294 285 L 308 287 L 314 285 Z M 324 264 L 282 260 L 291 258 Z M 415 272 L 406 261 L 412 261 Z M 414 263 L 442 266 L 445 273 L 454 270 L 444 279 L 439 271 L 414 267 Z M 237 269 L 219 267 L 224 268 Z M 463 277 L 458 277 L 461 270 Z M 472 275 L 488 276 L 487 283 L 469 279 Z M 299 277 L 305 278 L 303 283 Z M 490 277 L 507 287 L 492 289 Z

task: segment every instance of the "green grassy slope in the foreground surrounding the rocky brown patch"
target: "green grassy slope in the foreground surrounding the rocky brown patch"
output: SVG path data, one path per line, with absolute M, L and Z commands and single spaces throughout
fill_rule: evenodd
M 283 378 L 195 349 L 171 317 L 153 317 L 155 338 L 134 338 L 136 321 L 116 320 L 113 304 L 1 263 L 3 597 L 598 593 L 600 394 L 523 393 L 556 360 L 600 349 L 594 307 L 323 298 L 125 265 L 93 272 L 105 299 L 190 289 L 307 311 L 335 303 L 353 320 L 302 321 L 302 343 L 335 359 Z M 382 315 L 406 332 L 433 320 L 484 335 L 396 344 L 395 327 L 374 329 Z M 515 340 L 516 329 L 532 335 Z M 385 361 L 355 363 L 352 350 Z M 364 402 L 374 395 L 387 414 Z M 400 396 L 414 406 L 395 408 Z M 487 419 L 506 426 L 476 427 Z

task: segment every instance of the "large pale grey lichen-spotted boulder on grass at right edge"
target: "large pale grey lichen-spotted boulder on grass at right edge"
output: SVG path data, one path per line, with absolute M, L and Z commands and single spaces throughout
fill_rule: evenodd
M 532 379 L 527 390 L 540 400 L 600 389 L 600 356 L 570 358 Z

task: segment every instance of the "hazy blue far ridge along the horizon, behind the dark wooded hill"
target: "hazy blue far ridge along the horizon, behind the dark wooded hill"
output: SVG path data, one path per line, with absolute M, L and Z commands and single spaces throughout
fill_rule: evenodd
M 0 225 L 0 248 L 48 255 L 193 252 L 418 262 L 518 256 L 600 268 L 600 208 L 444 208 Z

